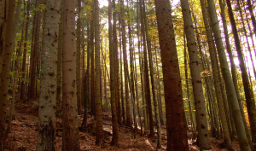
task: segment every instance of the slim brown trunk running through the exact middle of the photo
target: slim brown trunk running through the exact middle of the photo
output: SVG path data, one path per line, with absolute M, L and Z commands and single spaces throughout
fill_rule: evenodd
M 121 26 L 122 26 L 122 44 L 123 44 L 123 58 L 124 58 L 124 72 L 125 72 L 125 103 L 126 103 L 126 125 L 131 127 L 131 113 L 130 113 L 130 101 L 129 101 L 129 73 L 128 73 L 128 63 L 127 63 L 127 54 L 126 54 L 126 38 L 125 38 L 125 8 L 124 1 L 121 0 Z

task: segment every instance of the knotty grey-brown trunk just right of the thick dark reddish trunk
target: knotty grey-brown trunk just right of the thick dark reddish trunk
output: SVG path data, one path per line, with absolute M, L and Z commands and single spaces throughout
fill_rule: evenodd
M 207 129 L 207 113 L 205 107 L 205 99 L 203 95 L 201 71 L 199 67 L 199 57 L 197 55 L 197 45 L 195 41 L 195 32 L 193 22 L 189 10 L 189 1 L 181 0 L 184 32 L 187 38 L 187 46 L 189 51 L 189 67 L 192 78 L 192 86 L 195 101 L 195 116 L 198 131 L 199 147 L 201 150 L 211 149 L 210 139 Z

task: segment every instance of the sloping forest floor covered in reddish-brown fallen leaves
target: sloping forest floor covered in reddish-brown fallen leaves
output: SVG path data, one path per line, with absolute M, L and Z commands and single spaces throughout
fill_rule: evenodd
M 9 112 L 9 111 L 8 111 Z M 112 122 L 111 113 L 103 112 L 103 129 L 104 129 L 104 144 L 102 147 L 95 145 L 96 132 L 91 130 L 91 126 L 96 125 L 93 116 L 88 114 L 89 126 L 88 131 L 79 131 L 79 140 L 81 150 L 156 150 L 157 137 L 149 138 L 147 134 L 140 136 L 137 134 L 136 138 L 133 138 L 133 132 L 130 128 L 119 126 L 119 145 L 110 146 L 112 139 Z M 62 132 L 61 132 L 61 118 L 56 120 L 56 148 L 61 150 L 62 144 Z M 79 125 L 82 124 L 83 115 L 79 115 Z M 23 104 L 17 102 L 15 105 L 15 113 L 11 125 L 11 131 L 9 133 L 7 142 L 5 143 L 6 150 L 20 150 L 20 151 L 30 151 L 36 150 L 37 146 L 37 131 L 38 128 L 38 103 L 31 102 L 30 104 Z M 166 150 L 166 128 L 164 126 L 162 129 L 162 149 Z M 139 131 L 138 131 L 139 133 Z M 190 132 L 188 131 L 188 136 L 190 137 Z M 223 148 L 223 141 L 218 140 L 214 137 L 210 137 L 212 150 L 226 150 Z M 195 145 L 189 138 L 189 150 L 199 150 L 199 147 Z M 239 151 L 239 144 L 235 140 L 233 141 L 233 148 Z

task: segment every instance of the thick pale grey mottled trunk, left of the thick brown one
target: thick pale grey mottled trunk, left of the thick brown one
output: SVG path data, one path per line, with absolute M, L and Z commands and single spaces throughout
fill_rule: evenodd
M 46 2 L 44 49 L 42 50 L 41 88 L 38 110 L 37 150 L 55 150 L 55 106 L 60 1 Z

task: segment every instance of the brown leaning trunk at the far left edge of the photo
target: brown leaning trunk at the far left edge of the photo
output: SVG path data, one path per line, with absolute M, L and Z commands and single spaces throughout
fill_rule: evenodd
M 9 67 L 10 61 L 13 54 L 13 49 L 15 45 L 16 28 L 18 24 L 15 24 L 15 0 L 10 0 L 8 8 L 9 19 L 6 22 L 6 31 L 4 35 L 4 45 L 3 45 L 3 68 L 1 73 L 1 84 L 0 84 L 0 150 L 3 148 L 3 137 L 6 131 L 6 107 L 7 107 L 7 96 L 9 87 Z M 20 15 L 19 15 L 20 17 Z

